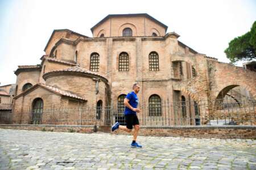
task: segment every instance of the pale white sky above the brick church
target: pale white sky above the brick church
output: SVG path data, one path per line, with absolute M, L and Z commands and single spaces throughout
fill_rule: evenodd
M 53 29 L 92 37 L 90 28 L 106 15 L 133 13 L 153 16 L 192 49 L 229 62 L 224 50 L 250 31 L 256 1 L 0 0 L 0 86 L 16 82 L 18 65 L 40 64 Z

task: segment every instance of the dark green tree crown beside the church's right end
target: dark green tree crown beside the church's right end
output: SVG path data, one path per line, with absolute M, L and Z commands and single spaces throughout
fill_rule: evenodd
M 231 63 L 237 61 L 251 61 L 256 59 L 256 21 L 251 30 L 245 35 L 236 37 L 229 42 L 229 47 L 225 49 L 226 57 Z

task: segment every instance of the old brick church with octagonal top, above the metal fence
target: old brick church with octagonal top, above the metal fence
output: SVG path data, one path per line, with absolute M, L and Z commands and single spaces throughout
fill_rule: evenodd
M 224 99 L 237 87 L 247 97 L 256 96 L 254 71 L 201 54 L 167 28 L 148 14 L 120 14 L 94 25 L 93 37 L 55 29 L 41 63 L 15 71 L 14 110 L 120 107 L 135 82 L 141 86 L 139 103 L 146 107 Z M 199 114 L 185 109 L 181 117 Z M 148 114 L 162 116 L 162 110 Z

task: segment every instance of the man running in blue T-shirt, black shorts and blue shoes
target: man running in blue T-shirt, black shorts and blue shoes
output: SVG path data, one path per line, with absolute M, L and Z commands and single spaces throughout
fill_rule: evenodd
M 116 122 L 112 126 L 112 131 L 117 129 L 122 129 L 127 131 L 128 133 L 131 132 L 134 126 L 134 133 L 133 133 L 133 142 L 131 143 L 131 147 L 142 147 L 136 142 L 138 133 L 139 133 L 139 119 L 137 117 L 136 112 L 141 112 L 140 109 L 137 109 L 137 105 L 139 103 L 139 99 L 137 94 L 139 92 L 139 85 L 137 83 L 133 84 L 133 91 L 127 94 L 123 104 L 125 104 L 125 122 L 126 126 L 119 125 L 119 122 Z

